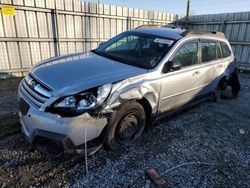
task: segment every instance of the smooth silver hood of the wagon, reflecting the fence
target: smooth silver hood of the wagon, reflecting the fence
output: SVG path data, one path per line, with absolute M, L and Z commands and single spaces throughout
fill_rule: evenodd
M 84 52 L 46 60 L 37 64 L 31 74 L 52 88 L 54 96 L 63 96 L 146 72 L 146 69 Z

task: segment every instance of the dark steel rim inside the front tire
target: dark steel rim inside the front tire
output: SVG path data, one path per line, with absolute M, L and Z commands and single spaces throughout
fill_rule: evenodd
M 137 117 L 130 113 L 126 115 L 119 124 L 117 130 L 117 136 L 120 142 L 127 142 L 134 138 L 138 131 L 138 119 Z

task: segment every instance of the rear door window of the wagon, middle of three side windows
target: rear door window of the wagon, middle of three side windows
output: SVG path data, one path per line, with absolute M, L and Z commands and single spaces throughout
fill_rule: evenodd
M 208 62 L 217 59 L 217 45 L 215 42 L 201 43 L 202 62 Z

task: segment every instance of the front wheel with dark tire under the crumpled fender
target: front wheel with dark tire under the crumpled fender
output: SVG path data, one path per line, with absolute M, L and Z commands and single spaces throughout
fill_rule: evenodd
M 118 109 L 105 140 L 108 149 L 119 149 L 138 138 L 146 125 L 146 114 L 141 104 L 129 101 Z

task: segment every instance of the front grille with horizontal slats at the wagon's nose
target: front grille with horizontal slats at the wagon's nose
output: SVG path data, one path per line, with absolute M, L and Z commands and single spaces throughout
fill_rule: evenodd
M 52 90 L 41 84 L 31 75 L 28 75 L 20 85 L 20 93 L 33 104 L 40 108 L 51 96 Z

